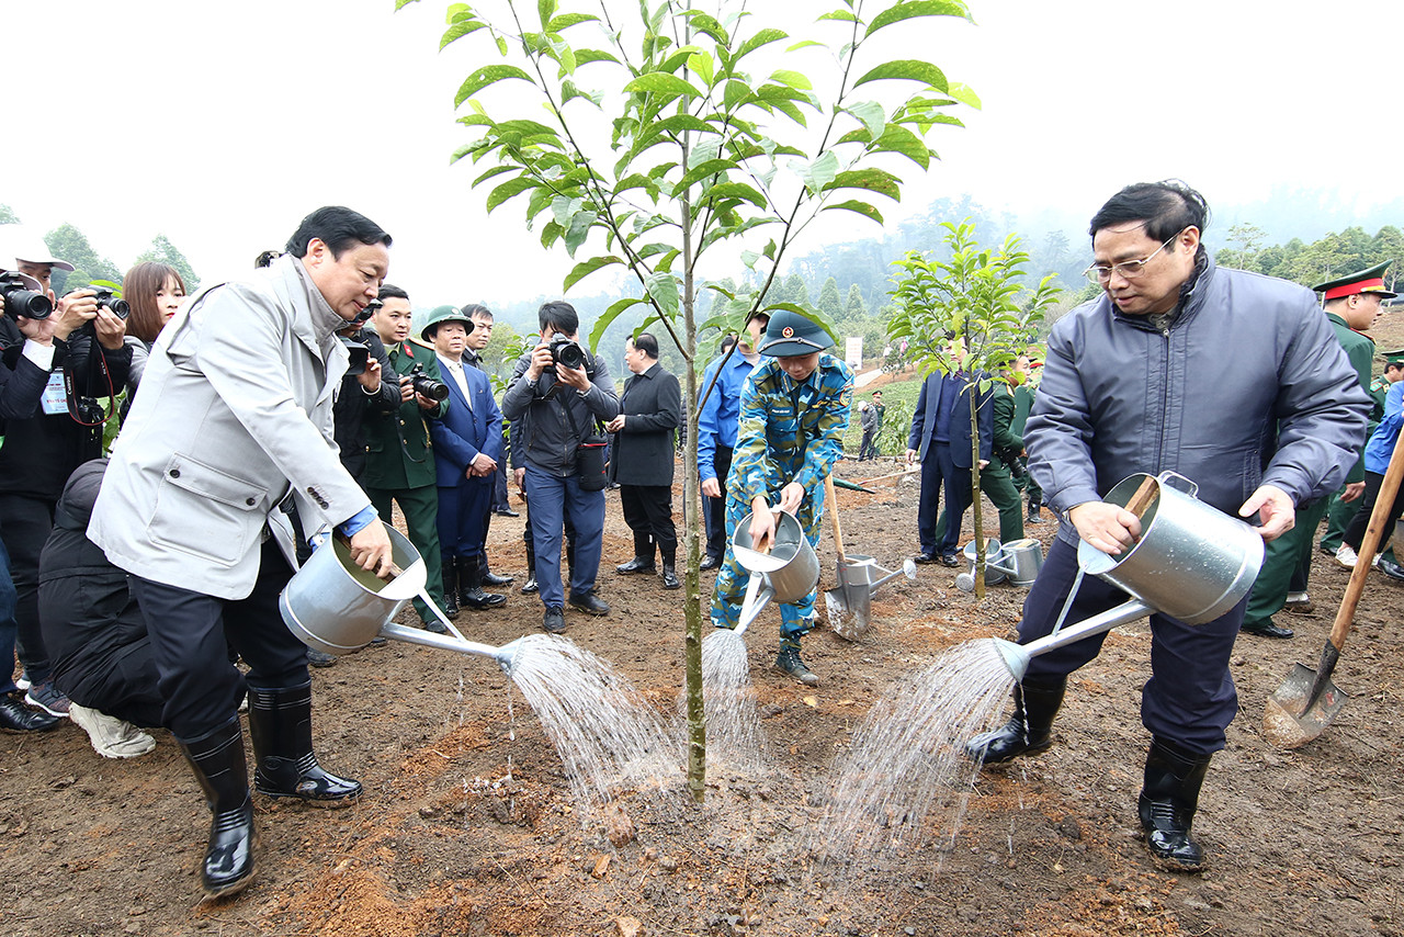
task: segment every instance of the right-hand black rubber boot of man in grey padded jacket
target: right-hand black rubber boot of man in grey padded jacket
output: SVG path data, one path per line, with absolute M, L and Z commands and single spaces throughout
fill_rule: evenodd
M 1184 872 L 1205 867 L 1205 851 L 1189 839 L 1212 754 L 1153 738 L 1139 808 L 1146 846 L 1161 865 Z

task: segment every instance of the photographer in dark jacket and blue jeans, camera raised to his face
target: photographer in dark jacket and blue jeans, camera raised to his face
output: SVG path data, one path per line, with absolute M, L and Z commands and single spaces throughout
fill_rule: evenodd
M 570 303 L 548 302 L 536 319 L 541 343 L 517 361 L 503 395 L 503 416 L 519 420 L 514 424 L 514 438 L 518 431 L 522 434 L 518 471 L 531 504 L 536 582 L 546 607 L 542 627 L 560 632 L 566 629 L 563 601 L 590 615 L 609 614 L 609 605 L 595 596 L 607 483 L 605 437 L 597 424 L 619 416 L 619 400 L 604 360 L 591 355 L 576 339 L 580 317 Z M 515 455 L 514 464 L 518 464 Z M 560 582 L 566 517 L 576 538 L 569 597 Z

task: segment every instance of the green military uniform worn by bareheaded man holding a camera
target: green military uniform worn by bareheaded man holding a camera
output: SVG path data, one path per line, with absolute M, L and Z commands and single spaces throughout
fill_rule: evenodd
M 428 348 L 404 341 L 388 348 L 388 354 L 397 375 L 409 374 L 418 364 L 425 376 L 444 379 L 438 360 Z M 424 558 L 427 590 L 439 608 L 444 607 L 444 575 L 438 542 L 438 489 L 425 420 L 438 420 L 445 413 L 446 399 L 432 410 L 423 410 L 417 398 L 410 398 L 393 413 L 368 413 L 365 472 L 361 476 L 361 486 L 371 504 L 386 521 L 392 517 L 390 503 L 400 504 L 410 542 Z M 424 624 L 439 624 L 423 598 L 414 600 L 414 608 Z

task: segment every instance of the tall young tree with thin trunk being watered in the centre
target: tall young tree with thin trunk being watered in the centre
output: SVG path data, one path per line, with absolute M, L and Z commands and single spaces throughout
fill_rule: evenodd
M 687 364 L 684 608 L 688 784 L 696 799 L 705 789 L 698 330 L 740 330 L 757 312 L 778 308 L 809 315 L 768 299 L 800 232 L 823 211 L 880 225 L 880 201 L 901 194 L 896 170 L 925 171 L 935 156 L 928 133 L 959 125 L 951 112 L 959 104 L 979 104 L 934 63 L 906 58 L 931 46 L 931 31 L 911 27 L 932 15 L 969 18 L 969 11 L 959 0 L 789 3 L 783 25 L 797 31 L 790 35 L 743 0 L 719 0 L 706 11 L 681 0 L 448 8 L 441 48 L 466 42 L 476 56 L 455 98 L 472 139 L 455 160 L 476 167 L 472 184 L 487 192 L 489 211 L 515 204 L 543 247 L 577 258 L 563 289 L 609 267 L 629 271 L 637 295 L 595 320 L 592 347 L 628 312 L 635 332 L 667 333 Z M 812 55 L 806 49 L 831 56 L 823 96 L 797 70 Z M 497 97 L 501 83 L 512 97 Z M 739 250 L 755 278 L 737 291 L 712 284 L 726 303 L 699 323 L 699 266 L 719 244 Z

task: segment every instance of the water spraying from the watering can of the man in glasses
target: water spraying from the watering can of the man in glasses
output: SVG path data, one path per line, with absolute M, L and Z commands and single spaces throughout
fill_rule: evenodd
M 928 826 L 953 839 L 980 767 L 966 754 L 1001 722 L 1014 674 L 993 639 L 958 645 L 873 705 L 833 773 L 816 851 L 847 861 L 896 848 Z

